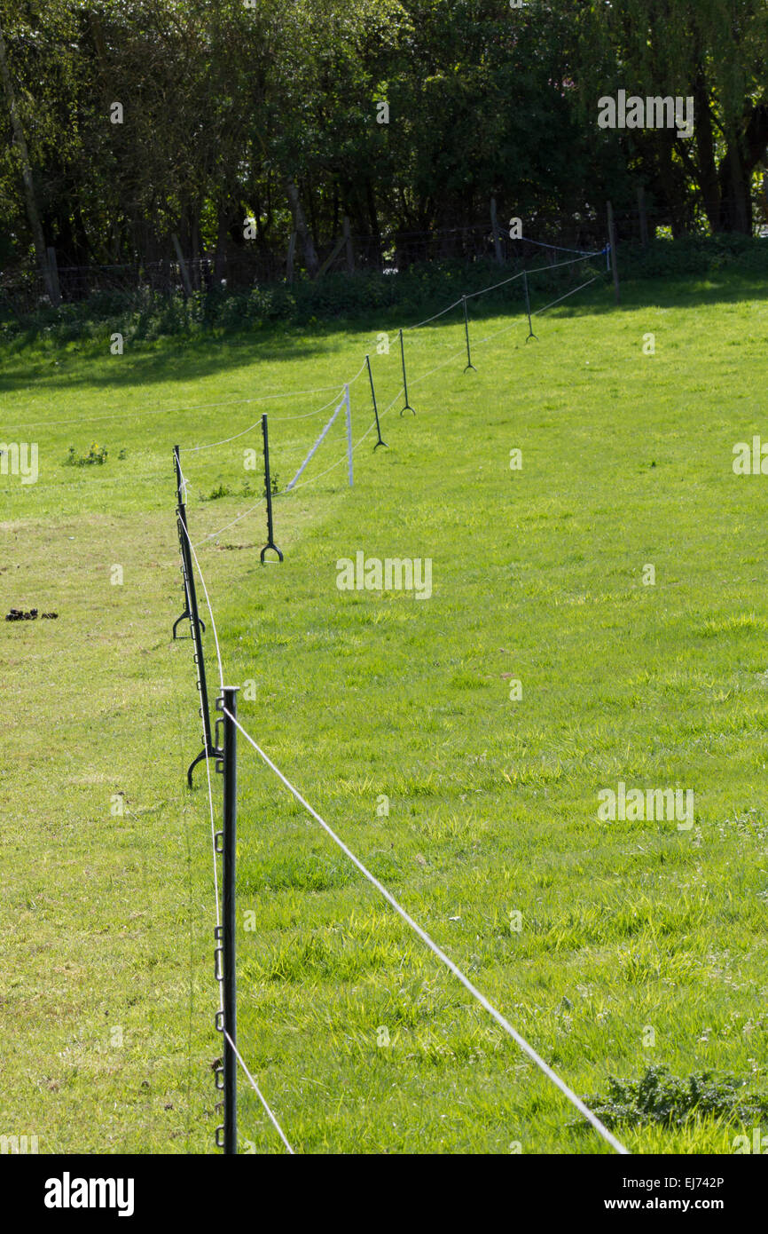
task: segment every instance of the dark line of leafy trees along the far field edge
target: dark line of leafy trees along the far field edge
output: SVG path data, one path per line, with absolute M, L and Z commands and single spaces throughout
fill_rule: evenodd
M 491 197 L 563 236 L 637 188 L 676 234 L 758 221 L 768 0 L 0 0 L 0 269 L 282 270 L 295 236 L 314 276 L 345 217 L 380 264 Z M 692 96 L 694 136 L 600 130 L 619 89 Z

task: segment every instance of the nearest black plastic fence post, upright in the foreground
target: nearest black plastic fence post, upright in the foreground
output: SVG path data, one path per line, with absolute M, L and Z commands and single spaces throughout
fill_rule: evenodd
M 223 752 L 217 761 L 217 770 L 223 771 L 224 805 L 222 832 L 222 1033 L 223 1043 L 223 1095 L 224 1125 L 223 1144 L 226 1154 L 238 1150 L 238 1088 L 237 1056 L 234 1046 L 238 1040 L 237 1028 L 237 971 L 235 971 L 235 913 L 234 879 L 237 853 L 237 816 L 238 816 L 238 731 L 234 721 L 238 713 L 238 687 L 224 686 L 218 700 L 218 710 L 223 712 Z

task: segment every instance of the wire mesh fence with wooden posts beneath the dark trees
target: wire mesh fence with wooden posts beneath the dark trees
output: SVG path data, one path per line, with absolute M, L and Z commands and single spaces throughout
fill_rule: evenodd
M 417 231 L 390 228 L 381 232 L 353 233 L 346 220 L 337 225 L 328 237 L 312 234 L 317 268 L 312 264 L 295 233 L 286 241 L 268 242 L 263 236 L 253 241 L 226 246 L 214 252 L 185 255 L 180 246 L 169 243 L 169 253 L 152 262 L 126 262 L 105 265 L 79 265 L 64 252 L 48 249 L 53 268 L 54 288 L 62 304 L 76 305 L 94 297 L 110 296 L 120 302 L 142 297 L 227 296 L 253 289 L 286 288 L 292 283 L 322 283 L 327 275 L 354 279 L 362 274 L 397 275 L 411 270 L 456 263 L 472 265 L 483 262 L 498 264 L 512 271 L 524 269 L 535 257 L 556 262 L 556 251 L 595 252 L 604 247 L 608 236 L 607 206 L 586 206 L 579 212 L 542 211 L 526 217 L 525 239 L 519 238 L 520 225 L 508 218 L 508 211 L 496 204 L 486 220 L 452 227 Z M 708 237 L 706 220 L 700 209 L 692 206 L 685 217 L 673 213 L 639 193 L 635 204 L 614 209 L 616 242 L 625 253 L 647 252 L 655 241 L 701 241 Z M 768 234 L 768 211 L 756 222 L 756 237 Z M 710 237 L 711 238 L 711 237 Z M 724 239 L 724 237 L 717 237 Z M 725 237 L 727 241 L 729 237 Z M 745 237 L 737 237 L 745 239 Z M 48 270 L 48 274 L 51 269 Z M 43 271 L 27 262 L 22 267 L 0 270 L 0 308 L 12 315 L 33 313 L 51 304 L 49 285 Z

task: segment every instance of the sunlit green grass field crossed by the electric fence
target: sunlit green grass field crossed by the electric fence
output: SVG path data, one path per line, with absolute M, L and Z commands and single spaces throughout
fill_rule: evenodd
M 59 613 L 2 623 L 0 1133 L 41 1153 L 214 1151 L 176 442 L 194 543 L 258 502 L 197 550 L 240 719 L 369 869 L 577 1093 L 651 1066 L 743 1082 L 730 1112 L 616 1122 L 634 1153 L 731 1153 L 766 1101 L 768 480 L 732 470 L 767 432 L 764 286 L 636 284 L 618 311 L 592 290 L 528 346 L 519 317 L 473 320 L 477 373 L 449 359 L 456 316 L 407 336 L 417 416 L 394 401 L 351 490 L 344 463 L 321 475 L 339 416 L 260 566 L 260 431 L 187 447 L 266 410 L 282 487 L 329 412 L 285 417 L 333 392 L 234 401 L 370 350 L 383 408 L 386 328 L 2 350 L 0 437 L 39 443 L 37 484 L 0 479 L 4 613 Z M 365 374 L 351 406 L 357 439 Z M 102 465 L 67 465 L 91 443 Z M 360 550 L 430 558 L 431 597 L 340 591 Z M 214 694 L 210 624 L 206 654 Z M 692 790 L 693 827 L 599 821 L 619 781 Z M 297 1151 L 610 1151 L 244 740 L 239 782 L 239 1045 Z M 243 1149 L 281 1151 L 240 1081 Z

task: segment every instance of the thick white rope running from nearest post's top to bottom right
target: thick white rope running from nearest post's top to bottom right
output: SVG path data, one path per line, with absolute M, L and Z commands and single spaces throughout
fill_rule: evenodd
M 551 1080 L 552 1083 L 556 1085 L 557 1088 L 560 1088 L 560 1091 L 563 1093 L 563 1096 L 566 1096 L 568 1098 L 568 1101 L 571 1102 L 571 1104 L 574 1106 L 576 1109 L 578 1109 L 579 1114 L 583 1114 L 583 1117 L 587 1119 L 587 1122 L 592 1123 L 592 1125 L 594 1127 L 595 1132 L 598 1132 L 598 1134 L 602 1135 L 603 1139 L 608 1144 L 610 1144 L 610 1146 L 613 1149 L 615 1149 L 616 1153 L 619 1153 L 619 1154 L 621 1154 L 624 1156 L 629 1156 L 630 1155 L 629 1149 L 626 1149 L 624 1146 L 624 1144 L 621 1144 L 621 1141 L 618 1140 L 616 1137 L 613 1135 L 608 1130 L 608 1128 L 600 1122 L 600 1119 L 597 1117 L 597 1114 L 593 1114 L 592 1111 L 589 1109 L 589 1107 L 586 1106 L 584 1102 L 581 1099 L 581 1097 L 577 1097 L 576 1093 L 573 1092 L 573 1090 L 568 1087 L 568 1085 L 565 1082 L 565 1080 L 561 1080 L 560 1076 L 557 1075 L 557 1072 L 552 1071 L 551 1066 L 547 1062 L 544 1061 L 544 1059 L 541 1058 L 540 1054 L 536 1053 L 536 1050 L 534 1050 L 533 1045 L 529 1045 L 528 1041 L 525 1040 L 525 1038 L 521 1037 L 520 1033 L 518 1033 L 518 1030 L 512 1027 L 512 1024 L 509 1023 L 509 1021 L 505 1019 L 504 1016 L 502 1016 L 502 1013 L 496 1009 L 496 1007 L 493 1006 L 493 1003 L 488 1002 L 488 1000 L 486 998 L 486 996 L 483 993 L 481 993 L 481 991 L 477 988 L 477 986 L 472 985 L 472 982 L 470 981 L 470 979 L 464 975 L 464 972 L 461 971 L 461 969 L 459 967 L 459 965 L 454 964 L 454 961 L 451 959 L 449 959 L 449 956 L 445 954 L 445 951 L 443 951 L 438 946 L 438 944 L 429 937 L 429 934 L 427 933 L 427 930 L 422 929 L 422 927 L 418 926 L 414 922 L 413 917 L 411 917 L 406 912 L 406 909 L 397 902 L 397 900 L 394 898 L 394 896 L 390 891 L 387 891 L 387 888 L 383 886 L 383 884 L 381 884 L 378 881 L 378 879 L 376 879 L 371 874 L 371 871 L 366 869 L 366 866 L 362 864 L 362 861 L 359 858 L 355 856 L 355 854 L 351 851 L 351 849 L 349 849 L 346 847 L 346 844 L 344 843 L 344 840 L 339 839 L 339 837 L 337 835 L 337 833 L 333 830 L 332 827 L 328 826 L 328 823 L 325 822 L 325 819 L 321 818 L 321 816 L 318 814 L 317 810 L 312 808 L 312 806 L 309 805 L 309 802 L 306 801 L 304 797 L 302 797 L 302 795 L 298 791 L 298 789 L 295 789 L 293 785 L 291 784 L 291 781 L 282 774 L 282 771 L 280 770 L 280 768 L 275 766 L 275 764 L 270 759 L 269 754 L 265 754 L 264 750 L 256 744 L 256 742 L 254 742 L 254 739 L 250 735 L 250 733 L 245 732 L 245 729 L 240 724 L 239 719 L 235 716 L 233 716 L 232 712 L 227 707 L 224 707 L 223 711 L 224 711 L 224 714 L 229 717 L 229 719 L 232 721 L 232 723 L 235 724 L 235 727 L 243 734 L 243 737 L 245 738 L 245 740 L 249 742 L 250 745 L 253 745 L 253 748 L 256 752 L 256 754 L 264 760 L 264 763 L 266 763 L 268 768 L 270 768 L 270 770 L 272 770 L 275 772 L 275 775 L 277 776 L 277 779 L 284 782 L 284 785 L 286 786 L 286 789 L 296 797 L 296 800 L 304 807 L 304 810 L 309 814 L 312 814 L 312 817 L 314 819 L 317 819 L 317 822 L 321 824 L 321 827 L 323 828 L 323 830 L 328 835 L 330 835 L 330 838 L 334 842 L 334 844 L 338 844 L 338 847 L 349 858 L 349 860 L 353 863 L 353 865 L 356 865 L 357 869 L 360 870 L 360 872 L 362 875 L 365 875 L 365 877 L 369 880 L 369 882 L 374 887 L 376 887 L 376 890 L 385 897 L 385 900 L 390 905 L 392 905 L 392 908 L 394 908 L 396 913 L 398 913 L 398 916 L 402 917 L 402 919 L 406 922 L 406 924 L 409 926 L 411 929 L 414 930 L 415 934 L 418 934 L 418 937 L 422 939 L 423 943 L 427 944 L 427 946 L 430 949 L 430 951 L 433 951 L 434 955 L 436 955 L 438 959 L 447 969 L 450 969 L 450 971 L 454 974 L 454 976 L 457 977 L 459 981 L 461 981 L 461 985 L 465 987 L 465 990 L 468 990 L 470 993 L 472 995 L 472 997 L 477 1000 L 477 1002 L 481 1004 L 481 1007 L 484 1007 L 484 1009 L 488 1012 L 489 1016 L 493 1017 L 493 1019 L 497 1022 L 497 1024 L 499 1024 L 504 1029 L 504 1032 L 509 1037 L 512 1037 L 512 1039 L 514 1041 L 518 1043 L 518 1045 L 520 1046 L 520 1049 L 525 1054 L 528 1054 L 529 1059 L 531 1059 L 536 1064 L 536 1066 L 539 1067 L 539 1070 L 544 1072 L 544 1075 L 547 1077 L 547 1080 Z

